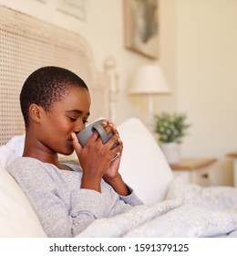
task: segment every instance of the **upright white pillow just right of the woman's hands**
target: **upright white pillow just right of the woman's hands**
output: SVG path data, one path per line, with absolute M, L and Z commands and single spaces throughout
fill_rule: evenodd
M 119 167 L 124 181 L 145 204 L 160 202 L 173 174 L 159 144 L 137 118 L 118 125 L 118 133 L 124 145 Z

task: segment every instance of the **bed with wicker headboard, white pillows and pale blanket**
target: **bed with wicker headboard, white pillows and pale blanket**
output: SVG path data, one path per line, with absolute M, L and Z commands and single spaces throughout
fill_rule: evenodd
M 5 170 L 24 147 L 19 91 L 39 67 L 71 69 L 88 84 L 92 121 L 109 117 L 110 80 L 106 72 L 97 71 L 83 37 L 4 6 L 0 13 L 0 237 L 46 237 L 26 196 Z M 119 123 L 118 132 L 124 143 L 120 173 L 144 205 L 96 219 L 77 237 L 237 237 L 236 188 L 199 187 L 174 178 L 138 118 Z M 77 161 L 76 155 L 59 157 Z

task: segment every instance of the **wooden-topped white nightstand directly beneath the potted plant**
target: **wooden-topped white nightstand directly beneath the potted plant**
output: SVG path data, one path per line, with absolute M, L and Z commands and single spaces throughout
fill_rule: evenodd
M 205 187 L 211 186 L 211 168 L 216 161 L 216 158 L 183 158 L 170 168 L 174 176 Z

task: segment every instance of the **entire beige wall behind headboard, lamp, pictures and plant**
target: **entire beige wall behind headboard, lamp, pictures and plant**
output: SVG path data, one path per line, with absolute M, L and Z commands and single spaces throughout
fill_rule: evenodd
M 99 70 L 117 60 L 120 123 L 129 116 L 148 121 L 147 99 L 128 96 L 140 64 L 150 62 L 123 46 L 123 1 L 86 0 L 86 20 L 60 13 L 55 0 L 0 0 L 0 4 L 65 27 L 88 40 Z M 228 152 L 237 150 L 237 1 L 159 0 L 160 59 L 170 96 L 155 97 L 156 112 L 187 112 L 192 123 L 183 156 L 218 157 L 216 184 L 232 184 Z

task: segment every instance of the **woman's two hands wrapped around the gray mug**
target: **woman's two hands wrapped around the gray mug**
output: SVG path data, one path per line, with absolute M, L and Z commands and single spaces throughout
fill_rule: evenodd
M 121 155 L 122 143 L 118 138 L 118 131 L 110 121 L 102 123 L 106 133 L 113 131 L 114 135 L 103 144 L 98 132 L 94 132 L 88 139 L 84 148 L 78 143 L 77 135 L 72 133 L 73 146 L 83 169 L 82 188 L 95 189 L 100 191 L 100 182 L 103 176 L 113 179 L 118 176 L 120 158 L 111 161 L 114 155 Z M 118 143 L 118 146 L 110 150 L 111 146 Z

